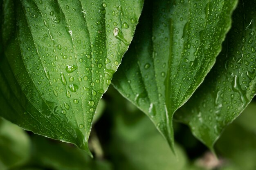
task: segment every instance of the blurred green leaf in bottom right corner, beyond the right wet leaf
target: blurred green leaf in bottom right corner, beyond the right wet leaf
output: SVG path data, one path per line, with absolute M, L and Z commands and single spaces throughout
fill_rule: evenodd
M 243 113 L 227 126 L 216 142 L 216 151 L 238 170 L 256 169 L 255 106 L 255 102 L 249 104 Z M 254 124 L 250 124 L 250 121 L 254 121 Z

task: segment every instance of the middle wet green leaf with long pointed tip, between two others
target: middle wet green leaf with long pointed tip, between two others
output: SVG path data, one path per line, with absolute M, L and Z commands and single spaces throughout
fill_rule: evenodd
M 201 84 L 231 26 L 236 0 L 152 1 L 113 80 L 173 148 L 172 117 Z

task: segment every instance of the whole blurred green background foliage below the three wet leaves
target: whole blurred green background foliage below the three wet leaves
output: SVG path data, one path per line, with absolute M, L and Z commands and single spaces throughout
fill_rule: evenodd
M 218 159 L 179 123 L 174 155 L 148 117 L 112 87 L 95 116 L 93 159 L 0 119 L 0 170 L 256 170 L 255 99 L 217 141 Z

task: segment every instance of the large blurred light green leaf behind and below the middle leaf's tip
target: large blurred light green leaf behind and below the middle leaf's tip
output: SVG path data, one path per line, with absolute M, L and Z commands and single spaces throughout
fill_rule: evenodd
M 107 95 L 111 96 L 106 100 L 109 112 L 104 116 L 113 122 L 108 136 L 110 142 L 106 145 L 104 141 L 104 144 L 105 154 L 108 154 L 114 169 L 187 170 L 188 159 L 179 145 L 175 145 L 175 157 L 146 115 L 115 89 L 109 89 Z M 106 133 L 106 127 L 101 127 L 99 132 Z

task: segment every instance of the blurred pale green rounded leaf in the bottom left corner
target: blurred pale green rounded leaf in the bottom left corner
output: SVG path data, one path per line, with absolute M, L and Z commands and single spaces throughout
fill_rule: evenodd
M 0 169 L 21 166 L 30 157 L 30 140 L 24 130 L 0 118 Z

